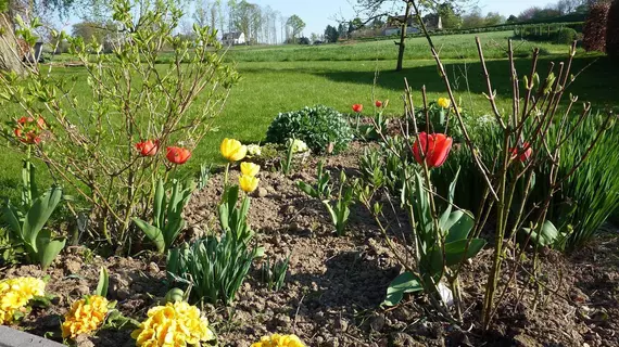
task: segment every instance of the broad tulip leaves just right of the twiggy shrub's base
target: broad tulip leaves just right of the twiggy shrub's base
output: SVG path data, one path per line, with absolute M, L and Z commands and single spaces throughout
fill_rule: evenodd
M 182 210 L 189 203 L 191 193 L 195 190 L 193 180 L 172 180 L 169 196 L 165 191 L 163 179 L 157 181 L 154 194 L 152 223 L 134 217 L 131 220 L 151 240 L 157 252 L 165 253 L 176 241 L 180 231 L 185 229 Z

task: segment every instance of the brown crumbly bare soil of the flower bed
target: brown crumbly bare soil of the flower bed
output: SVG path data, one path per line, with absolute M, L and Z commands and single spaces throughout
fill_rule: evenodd
M 355 175 L 363 146 L 354 143 L 346 153 L 326 157 L 331 176 L 339 177 L 340 170 Z M 295 187 L 298 180 L 315 180 L 316 163 L 317 158 L 305 158 L 290 177 L 269 170 L 273 163 L 263 163 L 261 188 L 250 209 L 254 240 L 271 258 L 290 255 L 290 268 L 285 286 L 275 292 L 262 283 L 256 261 L 233 305 L 203 307 L 220 346 L 247 347 L 276 332 L 296 334 L 307 346 L 619 346 L 617 233 L 567 256 L 542 252 L 538 281 L 527 273 L 528 268 L 520 269 L 515 277 L 518 285 L 505 295 L 488 331 L 473 323 L 480 321 L 485 273 L 491 267 L 492 248 L 482 250 L 463 273 L 465 312 L 464 324 L 458 326 L 426 311 L 429 305 L 422 296 L 381 307 L 390 281 L 402 267 L 363 207 L 353 208 L 348 235 L 334 236 L 321 203 Z M 223 175 L 215 175 L 194 194 L 186 210 L 190 228 L 185 240 L 217 231 L 214 211 L 222 180 Z M 396 208 L 388 218 L 406 229 L 406 218 Z M 402 249 L 397 236 L 389 235 Z M 506 260 L 505 279 L 511 274 L 510 264 Z M 167 291 L 161 256 L 142 253 L 134 258 L 102 259 L 85 248 L 68 248 L 47 271 L 36 266 L 0 269 L 2 278 L 49 275 L 47 290 L 55 296 L 50 307 L 35 308 L 15 327 L 62 340 L 62 314 L 72 300 L 94 291 L 101 266 L 110 271 L 109 298 L 117 300 L 127 317 L 142 320 Z M 102 330 L 94 337 L 80 336 L 76 343 L 135 346 L 130 332 L 127 324 L 119 331 Z

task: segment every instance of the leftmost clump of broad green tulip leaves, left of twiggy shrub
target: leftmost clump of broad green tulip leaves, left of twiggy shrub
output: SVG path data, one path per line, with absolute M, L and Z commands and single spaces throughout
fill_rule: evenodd
M 54 187 L 36 197 L 25 215 L 10 202 L 2 208 L 2 219 L 26 249 L 28 260 L 38 262 L 43 269 L 51 265 L 66 243 L 65 239 L 52 237 L 52 232 L 45 229 L 61 200 L 62 189 Z

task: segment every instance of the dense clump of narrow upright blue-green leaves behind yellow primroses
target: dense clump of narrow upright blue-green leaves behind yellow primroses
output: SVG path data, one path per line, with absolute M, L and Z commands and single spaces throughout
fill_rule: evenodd
M 256 256 L 257 248 L 231 232 L 224 232 L 220 240 L 207 236 L 169 250 L 168 280 L 170 285 L 191 285 L 193 301 L 229 305 Z

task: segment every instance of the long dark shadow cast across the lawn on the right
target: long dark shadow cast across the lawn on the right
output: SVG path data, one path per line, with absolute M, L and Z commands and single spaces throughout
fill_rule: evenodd
M 552 62 L 555 63 L 555 74 L 558 73 L 558 64 L 565 62 L 567 56 L 543 56 L 538 63 L 540 77 L 545 77 Z M 487 62 L 490 78 L 496 93 L 502 98 L 511 98 L 511 82 L 509 81 L 509 64 L 506 60 Z M 445 69 L 458 92 L 481 94 L 488 93 L 485 79 L 479 62 L 446 63 Z M 516 69 L 522 78 L 531 72 L 531 60 L 519 59 L 516 61 Z M 572 63 L 571 72 L 577 76 L 574 82 L 568 88 L 568 92 L 578 95 L 580 101 L 591 102 L 594 108 L 618 107 L 619 85 L 611 76 L 619 76 L 619 65 L 612 64 L 606 56 L 578 56 Z M 371 85 L 375 73 L 372 70 L 345 70 L 314 73 L 337 82 L 358 85 Z M 392 90 L 404 89 L 404 78 L 408 80 L 413 90 L 421 90 L 426 86 L 428 92 L 445 92 L 445 86 L 439 77 L 435 65 L 404 68 L 402 72 L 381 72 L 377 85 Z M 564 102 L 567 102 L 567 98 Z

